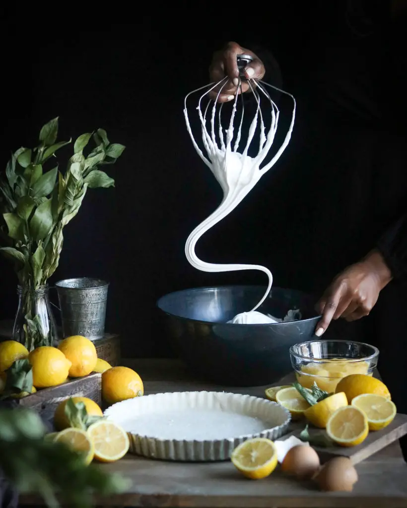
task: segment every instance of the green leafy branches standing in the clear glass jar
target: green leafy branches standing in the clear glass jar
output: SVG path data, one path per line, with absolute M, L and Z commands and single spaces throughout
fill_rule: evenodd
M 71 140 L 58 142 L 57 135 L 58 118 L 54 118 L 41 129 L 40 144 L 12 153 L 0 174 L 0 252 L 13 263 L 20 285 L 33 291 L 57 269 L 63 229 L 78 213 L 87 189 L 114 186 L 113 178 L 99 167 L 114 164 L 125 148 L 110 143 L 103 129 L 82 134 L 62 173 L 55 153 Z M 91 140 L 95 146 L 85 155 Z M 45 170 L 47 164 L 51 169 Z M 23 299 L 26 346 L 51 345 L 32 311 L 30 291 Z

